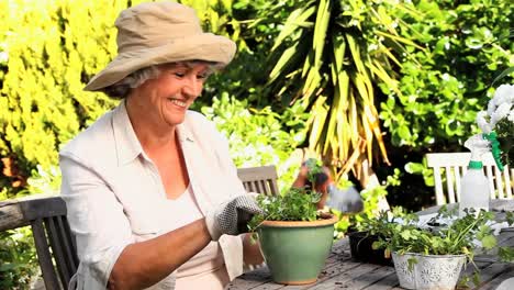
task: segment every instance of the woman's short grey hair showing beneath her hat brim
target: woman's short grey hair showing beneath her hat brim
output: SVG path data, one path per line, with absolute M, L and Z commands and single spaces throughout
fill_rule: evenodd
M 217 63 L 205 62 L 205 60 L 186 60 L 186 62 L 171 63 L 167 65 L 183 64 L 188 68 L 190 68 L 192 65 L 198 64 L 198 63 L 209 65 L 209 68 L 206 71 L 208 76 L 219 69 Z M 163 70 L 159 69 L 159 67 L 155 65 L 149 66 L 149 67 L 144 67 L 132 72 L 131 75 L 126 76 L 125 78 L 118 81 L 116 83 L 103 88 L 101 91 L 103 91 L 111 99 L 115 99 L 115 100 L 125 99 L 126 97 L 128 97 L 128 93 L 131 93 L 132 89 L 139 87 L 148 79 L 158 78 L 161 71 Z

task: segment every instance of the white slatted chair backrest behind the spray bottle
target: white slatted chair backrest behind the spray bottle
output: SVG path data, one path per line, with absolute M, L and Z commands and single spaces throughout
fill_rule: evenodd
M 466 174 L 471 153 L 431 153 L 426 154 L 427 166 L 434 168 L 435 194 L 437 204 L 460 200 L 460 179 Z M 492 155 L 482 156 L 484 175 L 489 179 L 491 199 L 511 199 L 514 191 L 514 170 L 505 166 L 500 171 Z M 443 182 L 443 175 L 446 182 Z

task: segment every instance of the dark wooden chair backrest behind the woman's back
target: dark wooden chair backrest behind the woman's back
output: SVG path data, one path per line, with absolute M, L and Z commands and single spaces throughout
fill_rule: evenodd
M 0 202 L 0 231 L 31 225 L 46 289 L 68 289 L 79 264 L 59 197 Z

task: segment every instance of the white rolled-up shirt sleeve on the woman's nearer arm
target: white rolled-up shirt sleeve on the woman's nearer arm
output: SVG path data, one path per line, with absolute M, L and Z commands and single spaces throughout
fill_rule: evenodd
M 101 175 L 71 154 L 60 154 L 62 197 L 77 241 L 76 289 L 105 289 L 120 254 L 134 243 L 128 219 Z M 75 288 L 71 287 L 71 288 Z

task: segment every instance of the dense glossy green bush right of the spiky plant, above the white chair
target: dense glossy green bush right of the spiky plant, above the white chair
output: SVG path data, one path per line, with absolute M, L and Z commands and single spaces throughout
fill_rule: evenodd
M 391 144 L 411 150 L 459 150 L 476 132 L 495 76 L 514 62 L 509 1 L 415 1 L 402 36 L 421 49 L 401 58 L 400 93 L 388 93 L 380 118 Z M 512 78 L 511 78 L 512 79 Z M 509 80 L 507 80 L 509 82 Z

